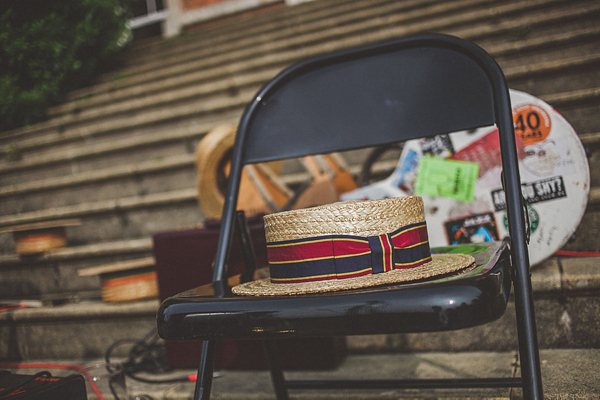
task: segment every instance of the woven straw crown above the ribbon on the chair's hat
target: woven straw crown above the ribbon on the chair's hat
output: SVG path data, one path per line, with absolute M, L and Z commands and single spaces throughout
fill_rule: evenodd
M 424 220 L 418 196 L 343 201 L 264 217 L 271 243 L 324 235 L 377 236 Z

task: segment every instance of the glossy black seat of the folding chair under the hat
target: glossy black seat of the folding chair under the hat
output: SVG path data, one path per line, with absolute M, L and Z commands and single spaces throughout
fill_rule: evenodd
M 232 294 L 238 275 L 165 300 L 158 311 L 158 331 L 168 340 L 427 332 L 476 326 L 504 313 L 511 288 L 505 243 L 432 252 L 472 254 L 476 267 L 429 281 L 277 297 Z M 266 273 L 259 270 L 255 276 Z

